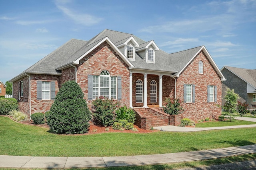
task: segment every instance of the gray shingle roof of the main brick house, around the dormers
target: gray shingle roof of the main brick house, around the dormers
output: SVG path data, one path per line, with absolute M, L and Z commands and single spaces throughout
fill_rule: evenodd
M 129 33 L 122 33 L 118 31 L 112 31 L 105 29 L 89 41 L 83 41 L 78 39 L 71 39 L 30 68 L 12 79 L 19 78 L 24 73 L 36 73 L 36 74 L 61 74 L 60 70 L 70 66 L 70 63 L 78 60 L 82 55 L 95 47 L 97 43 L 108 37 L 114 45 L 120 45 L 133 37 L 135 41 L 140 45 L 136 49 L 145 47 L 150 41 L 146 42 L 135 35 Z M 155 51 L 155 63 L 146 63 L 146 59 L 142 58 L 136 53 L 136 60 L 130 61 L 134 68 L 146 69 L 146 70 L 158 70 L 170 72 L 172 74 L 179 74 L 180 71 L 188 64 L 188 62 L 199 52 L 201 47 L 180 51 L 177 53 L 168 54 L 162 50 Z M 220 73 L 221 74 L 221 73 Z M 11 81 L 11 80 L 10 80 Z

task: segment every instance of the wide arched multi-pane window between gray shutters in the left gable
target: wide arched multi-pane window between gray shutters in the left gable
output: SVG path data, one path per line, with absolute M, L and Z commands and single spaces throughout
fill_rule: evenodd
M 110 77 L 107 70 L 100 72 L 100 76 L 92 76 L 92 84 L 93 99 L 99 96 L 116 99 L 116 77 Z

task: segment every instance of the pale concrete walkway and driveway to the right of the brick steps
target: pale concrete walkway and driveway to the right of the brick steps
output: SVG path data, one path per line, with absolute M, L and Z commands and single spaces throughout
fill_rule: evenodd
M 256 122 L 256 118 L 251 118 L 251 117 L 236 117 L 235 119 Z M 168 125 L 168 126 L 154 127 L 154 129 L 162 130 L 162 131 L 172 131 L 172 132 L 194 132 L 194 131 L 234 129 L 234 128 L 244 128 L 244 127 L 256 127 L 256 123 L 255 125 L 238 125 L 238 126 L 222 126 L 222 127 L 180 127 L 180 126 Z

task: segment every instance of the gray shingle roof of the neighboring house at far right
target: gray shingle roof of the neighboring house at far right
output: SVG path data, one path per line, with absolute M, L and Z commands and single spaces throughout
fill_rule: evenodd
M 256 69 L 246 69 L 246 68 L 237 68 L 237 67 L 230 67 L 230 66 L 224 66 L 236 76 L 242 78 L 245 82 L 251 84 L 256 88 Z

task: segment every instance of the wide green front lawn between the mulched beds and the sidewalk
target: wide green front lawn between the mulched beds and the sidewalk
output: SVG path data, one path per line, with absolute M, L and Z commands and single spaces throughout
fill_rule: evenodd
M 0 155 L 129 156 L 217 149 L 256 143 L 256 128 L 189 133 L 56 135 L 0 117 Z M 239 134 L 239 135 L 238 135 Z

